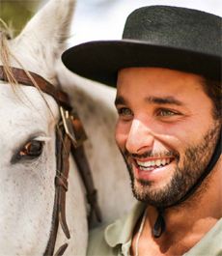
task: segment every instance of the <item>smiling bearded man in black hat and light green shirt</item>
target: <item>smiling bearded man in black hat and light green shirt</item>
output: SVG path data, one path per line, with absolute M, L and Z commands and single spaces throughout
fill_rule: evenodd
M 63 61 L 117 86 L 116 141 L 143 202 L 93 231 L 88 254 L 222 255 L 221 17 L 141 8 L 123 41 L 80 44 Z

